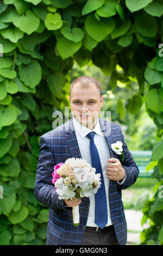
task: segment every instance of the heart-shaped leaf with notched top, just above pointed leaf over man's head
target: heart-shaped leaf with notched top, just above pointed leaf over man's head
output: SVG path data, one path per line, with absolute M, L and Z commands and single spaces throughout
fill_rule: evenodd
M 61 34 L 70 41 L 79 42 L 84 37 L 84 32 L 81 28 L 62 27 Z

